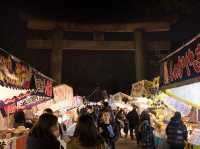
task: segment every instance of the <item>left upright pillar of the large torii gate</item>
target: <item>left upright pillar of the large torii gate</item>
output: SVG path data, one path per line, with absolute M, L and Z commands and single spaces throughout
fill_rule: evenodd
M 51 52 L 51 76 L 58 84 L 62 81 L 62 40 L 63 31 L 60 29 L 53 30 L 52 34 L 52 52 Z

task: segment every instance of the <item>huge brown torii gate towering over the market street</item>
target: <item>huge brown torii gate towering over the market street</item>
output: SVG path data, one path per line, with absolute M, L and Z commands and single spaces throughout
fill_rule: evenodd
M 31 30 L 53 31 L 49 40 L 27 40 L 30 49 L 52 49 L 51 75 L 58 82 L 62 79 L 62 51 L 79 50 L 131 50 L 135 52 L 136 80 L 144 79 L 145 50 L 169 50 L 170 41 L 144 41 L 144 32 L 169 31 L 173 20 L 145 21 L 133 23 L 74 23 L 27 18 L 27 28 Z M 64 40 L 65 31 L 93 32 L 93 40 Z M 105 41 L 105 32 L 133 32 L 134 41 Z

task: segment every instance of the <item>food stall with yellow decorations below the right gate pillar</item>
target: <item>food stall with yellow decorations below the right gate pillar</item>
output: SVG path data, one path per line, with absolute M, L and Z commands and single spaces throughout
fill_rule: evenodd
M 166 146 L 165 129 L 174 111 L 163 100 L 160 100 L 159 83 L 159 77 L 152 81 L 136 82 L 132 84 L 131 96 L 135 99 L 133 103 L 139 114 L 149 111 L 151 124 L 154 127 L 155 143 L 164 149 Z

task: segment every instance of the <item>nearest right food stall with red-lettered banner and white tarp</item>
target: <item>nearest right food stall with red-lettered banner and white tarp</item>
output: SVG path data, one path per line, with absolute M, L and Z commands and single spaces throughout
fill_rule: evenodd
M 188 142 L 200 148 L 200 34 L 161 60 L 161 89 L 170 98 L 185 103 L 186 114 L 190 109 L 184 118 L 191 130 Z

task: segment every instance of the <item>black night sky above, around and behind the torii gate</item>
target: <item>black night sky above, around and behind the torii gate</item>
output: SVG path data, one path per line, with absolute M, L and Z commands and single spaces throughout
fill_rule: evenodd
M 24 14 L 100 23 L 176 16 L 177 23 L 166 33 L 166 37 L 172 42 L 171 50 L 174 50 L 200 32 L 199 9 L 199 0 L 65 0 L 48 1 L 48 5 L 46 2 L 19 0 L 0 5 L 0 47 L 50 75 L 50 50 L 31 50 L 25 47 L 25 40 L 29 35 L 23 21 Z M 84 38 L 83 34 L 73 33 L 74 35 L 76 38 Z M 109 36 L 111 35 L 107 35 L 108 38 Z M 112 36 L 115 37 L 114 34 Z M 120 40 L 132 38 L 129 33 L 118 36 Z M 156 36 L 162 38 L 163 34 Z M 78 94 L 88 95 L 96 86 L 101 86 L 109 93 L 120 90 L 128 93 L 131 83 L 135 81 L 134 54 L 128 51 L 68 50 L 64 51 L 63 59 L 63 82 L 73 86 Z M 148 79 L 154 77 L 156 70 L 152 68 L 147 71 Z

